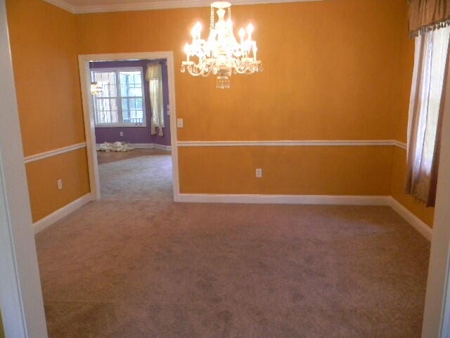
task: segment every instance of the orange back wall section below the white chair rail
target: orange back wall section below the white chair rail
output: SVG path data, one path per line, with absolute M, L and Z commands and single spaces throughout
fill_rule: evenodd
M 182 193 L 386 195 L 391 162 L 392 146 L 179 149 Z M 263 168 L 263 178 L 255 178 L 255 168 Z

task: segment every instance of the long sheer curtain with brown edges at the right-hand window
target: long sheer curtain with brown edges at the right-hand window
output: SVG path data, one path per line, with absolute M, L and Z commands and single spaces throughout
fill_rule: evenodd
M 409 103 L 406 193 L 434 206 L 450 27 L 416 37 Z

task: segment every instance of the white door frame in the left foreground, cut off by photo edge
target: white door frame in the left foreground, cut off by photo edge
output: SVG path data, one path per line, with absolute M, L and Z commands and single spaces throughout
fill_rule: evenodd
M 0 306 L 6 338 L 46 338 L 5 1 L 0 0 Z

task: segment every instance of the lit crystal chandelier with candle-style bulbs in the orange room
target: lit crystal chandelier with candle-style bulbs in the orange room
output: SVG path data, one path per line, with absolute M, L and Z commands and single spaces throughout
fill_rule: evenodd
M 214 12 L 218 17 L 215 23 Z M 240 28 L 238 42 L 233 34 L 229 2 L 216 1 L 211 4 L 210 35 L 207 40 L 201 39 L 201 30 L 200 23 L 196 23 L 191 30 L 192 43 L 184 46 L 186 61 L 181 62 L 181 73 L 187 69 L 193 76 L 217 75 L 216 87 L 224 89 L 230 87 L 231 73 L 262 72 L 262 62 L 256 58 L 256 42 L 252 40 L 253 26 L 250 23 L 247 30 Z M 191 56 L 197 62 L 191 61 Z

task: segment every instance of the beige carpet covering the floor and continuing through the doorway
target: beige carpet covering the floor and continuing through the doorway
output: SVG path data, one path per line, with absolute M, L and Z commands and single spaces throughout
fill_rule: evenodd
M 420 337 L 430 246 L 390 208 L 174 204 L 167 155 L 100 168 L 37 235 L 51 338 Z

